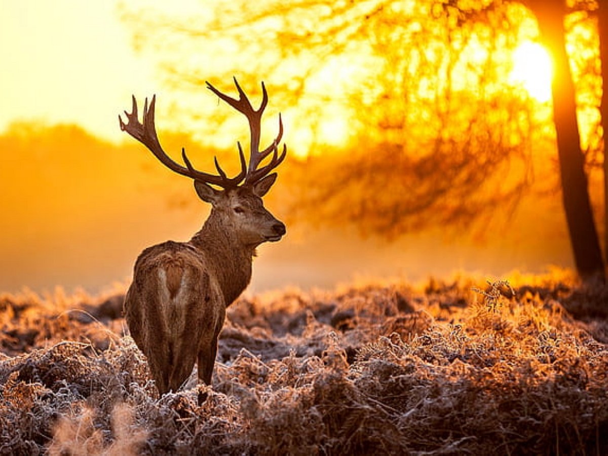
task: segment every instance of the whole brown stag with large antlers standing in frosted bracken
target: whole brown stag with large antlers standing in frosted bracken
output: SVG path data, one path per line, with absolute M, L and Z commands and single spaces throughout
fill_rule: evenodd
M 226 95 L 209 82 L 221 100 L 244 114 L 250 131 L 249 163 L 237 142 L 240 172 L 229 178 L 214 157 L 217 174 L 196 170 L 185 149 L 184 165 L 171 159 L 156 134 L 154 108 L 146 98 L 143 120 L 137 116 L 133 96 L 126 122 L 119 116 L 120 129 L 142 143 L 174 173 L 193 179 L 198 197 L 211 204 L 202 228 L 190 241 L 166 241 L 148 247 L 137 257 L 133 282 L 125 295 L 123 314 L 131 337 L 147 358 L 150 373 L 160 395 L 177 392 L 197 363 L 198 380 L 211 385 L 218 349 L 218 336 L 226 318 L 226 308 L 249 285 L 252 259 L 264 242 L 279 241 L 285 224 L 265 207 L 262 198 L 277 179 L 271 173 L 285 159 L 287 147 L 278 152 L 283 122 L 278 116 L 278 134 L 260 151 L 261 117 L 268 103 L 264 83 L 260 107 L 254 109 L 234 78 L 238 98 Z M 269 158 L 268 158 L 269 157 Z M 264 161 L 266 164 L 261 165 Z M 207 393 L 199 393 L 199 402 Z

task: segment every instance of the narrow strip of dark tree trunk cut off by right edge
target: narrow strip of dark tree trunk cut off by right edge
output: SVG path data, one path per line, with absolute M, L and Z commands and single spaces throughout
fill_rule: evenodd
M 602 65 L 602 99 L 599 112 L 602 116 L 604 139 L 604 258 L 608 261 L 608 6 L 599 2 L 599 60 Z

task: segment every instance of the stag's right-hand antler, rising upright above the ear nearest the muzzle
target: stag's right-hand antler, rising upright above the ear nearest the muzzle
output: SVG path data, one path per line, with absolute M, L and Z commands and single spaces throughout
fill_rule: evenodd
M 257 110 L 253 108 L 251 103 L 249 102 L 249 98 L 241 86 L 238 85 L 237 78 L 234 78 L 235 86 L 237 86 L 238 100 L 232 97 L 229 97 L 226 94 L 218 91 L 215 87 L 213 87 L 209 82 L 207 82 L 207 88 L 210 89 L 214 94 L 218 95 L 219 98 L 224 100 L 224 102 L 228 103 L 233 108 L 237 109 L 237 111 L 247 117 L 249 121 L 249 131 L 251 134 L 251 144 L 250 144 L 250 156 L 249 156 L 249 167 L 247 168 L 247 175 L 245 178 L 244 185 L 253 185 L 255 182 L 260 181 L 264 176 L 266 176 L 270 171 L 276 168 L 281 164 L 283 159 L 285 159 L 285 155 L 287 153 L 287 147 L 283 144 L 283 151 L 279 155 L 278 154 L 278 143 L 281 141 L 283 137 L 283 122 L 281 120 L 281 114 L 278 115 L 278 135 L 275 140 L 260 152 L 260 131 L 261 131 L 261 118 L 266 108 L 266 104 L 268 103 L 268 93 L 266 92 L 266 87 L 264 87 L 264 83 L 262 83 L 262 102 L 260 108 Z M 238 150 L 243 155 L 243 150 L 241 149 L 241 143 L 238 143 Z M 268 155 L 272 152 L 271 161 L 268 164 L 264 165 L 260 169 L 258 166 L 260 162 L 263 161 Z

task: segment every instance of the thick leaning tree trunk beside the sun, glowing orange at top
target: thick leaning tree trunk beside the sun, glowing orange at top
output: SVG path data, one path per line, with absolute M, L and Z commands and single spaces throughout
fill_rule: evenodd
M 565 2 L 530 1 L 542 40 L 553 51 L 553 119 L 558 142 L 562 198 L 576 270 L 582 278 L 604 275 L 604 261 L 584 170 L 576 121 L 575 88 L 565 48 Z

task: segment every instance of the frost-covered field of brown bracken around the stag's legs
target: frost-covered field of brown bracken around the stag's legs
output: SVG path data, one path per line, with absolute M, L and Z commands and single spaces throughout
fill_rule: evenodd
M 0 454 L 608 454 L 608 288 L 564 272 L 241 298 L 162 398 L 121 308 L 0 296 Z

